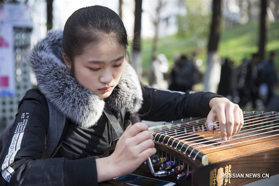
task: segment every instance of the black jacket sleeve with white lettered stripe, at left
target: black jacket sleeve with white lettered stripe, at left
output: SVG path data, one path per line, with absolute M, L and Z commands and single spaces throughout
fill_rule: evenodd
M 27 91 L 0 157 L 0 185 L 97 185 L 95 157 L 42 159 L 48 123 L 47 101 Z

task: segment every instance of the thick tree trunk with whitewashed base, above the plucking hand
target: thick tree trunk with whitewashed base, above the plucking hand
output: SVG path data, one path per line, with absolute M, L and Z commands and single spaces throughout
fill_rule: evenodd
M 206 72 L 204 75 L 204 91 L 216 93 L 221 74 L 220 58 L 217 54 L 221 24 L 221 0 L 214 0 L 212 2 L 213 14 L 208 42 Z

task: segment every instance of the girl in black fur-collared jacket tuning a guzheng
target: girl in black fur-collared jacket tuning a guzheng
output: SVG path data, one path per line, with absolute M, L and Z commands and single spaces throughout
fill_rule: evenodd
M 97 185 L 131 173 L 156 152 L 152 135 L 146 124 L 130 124 L 113 154 L 102 157 L 118 136 L 104 109 L 123 130 L 135 112 L 150 121 L 218 119 L 224 140 L 241 129 L 241 109 L 220 95 L 142 86 L 126 61 L 127 45 L 122 20 L 102 6 L 75 11 L 63 33 L 50 31 L 38 42 L 29 55 L 38 88 L 19 103 L 0 185 Z

